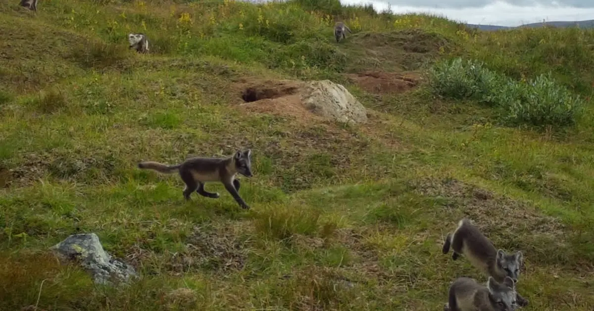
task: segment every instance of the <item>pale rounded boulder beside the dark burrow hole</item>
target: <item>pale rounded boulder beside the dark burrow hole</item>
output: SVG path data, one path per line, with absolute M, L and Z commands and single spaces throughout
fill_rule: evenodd
M 314 114 L 346 123 L 365 123 L 365 107 L 341 84 L 330 80 L 309 81 L 301 100 Z

